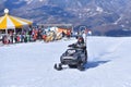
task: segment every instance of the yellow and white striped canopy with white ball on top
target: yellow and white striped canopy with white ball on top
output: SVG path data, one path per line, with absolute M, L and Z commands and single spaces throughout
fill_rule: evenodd
M 8 28 L 22 28 L 25 25 L 32 25 L 33 22 L 11 16 L 9 15 L 9 11 L 4 10 L 4 15 L 0 17 L 0 29 L 8 29 Z

